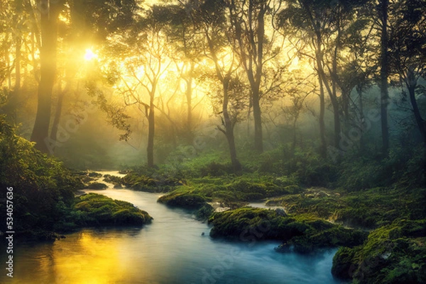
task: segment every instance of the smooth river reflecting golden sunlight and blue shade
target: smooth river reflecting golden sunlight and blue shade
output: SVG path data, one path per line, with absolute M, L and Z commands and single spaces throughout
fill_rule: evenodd
M 125 188 L 88 192 L 129 201 L 146 210 L 153 223 L 142 229 L 83 229 L 57 242 L 18 246 L 14 278 L 5 283 L 339 283 L 330 272 L 335 249 L 314 256 L 278 254 L 273 250 L 278 242 L 211 239 L 209 225 L 157 203 L 158 193 Z

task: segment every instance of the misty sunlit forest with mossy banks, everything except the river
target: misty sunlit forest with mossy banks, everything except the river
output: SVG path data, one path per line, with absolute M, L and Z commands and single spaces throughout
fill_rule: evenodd
M 336 248 L 339 280 L 426 283 L 425 30 L 425 0 L 1 1 L 0 230 L 155 226 L 97 194 L 126 188 L 212 239 Z

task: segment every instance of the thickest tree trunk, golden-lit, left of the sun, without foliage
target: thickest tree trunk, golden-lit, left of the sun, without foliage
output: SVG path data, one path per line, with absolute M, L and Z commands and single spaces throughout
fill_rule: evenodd
M 50 4 L 50 6 L 49 6 Z M 41 38 L 40 48 L 40 84 L 38 84 L 37 115 L 31 141 L 35 148 L 48 152 L 45 140 L 49 137 L 52 89 L 56 73 L 57 18 L 59 4 L 57 1 L 41 1 Z

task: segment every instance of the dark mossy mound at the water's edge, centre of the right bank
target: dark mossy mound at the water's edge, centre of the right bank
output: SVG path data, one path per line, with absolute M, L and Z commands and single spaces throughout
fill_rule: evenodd
M 211 237 L 239 241 L 275 239 L 285 243 L 280 249 L 292 246 L 302 253 L 325 247 L 356 246 L 366 239 L 366 233 L 359 230 L 345 229 L 318 218 L 283 216 L 261 208 L 215 212 L 209 222 L 213 225 Z

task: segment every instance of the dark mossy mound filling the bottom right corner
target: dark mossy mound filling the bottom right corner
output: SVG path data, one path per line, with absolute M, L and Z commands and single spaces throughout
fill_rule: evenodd
M 396 220 L 368 235 L 362 246 L 343 247 L 332 273 L 359 284 L 426 283 L 426 220 Z

